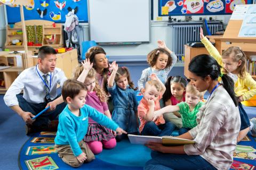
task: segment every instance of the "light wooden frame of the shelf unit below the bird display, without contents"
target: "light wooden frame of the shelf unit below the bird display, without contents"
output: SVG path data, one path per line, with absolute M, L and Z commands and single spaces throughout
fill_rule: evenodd
M 53 27 L 54 22 L 52 21 L 46 21 L 46 20 L 27 20 L 25 21 L 26 25 L 42 25 L 43 26 L 43 40 L 42 42 L 37 42 L 39 44 L 48 45 L 53 48 L 61 48 L 63 47 L 63 35 L 62 35 L 62 24 L 61 23 L 55 23 L 55 27 Z M 14 24 L 13 28 L 10 28 L 10 25 L 7 25 L 6 27 L 6 42 L 5 42 L 5 48 L 8 48 L 10 50 L 24 50 L 24 45 L 11 45 L 12 40 L 19 39 L 23 43 L 23 35 L 13 35 L 13 32 L 17 32 L 18 30 L 22 30 L 21 28 L 21 22 L 17 22 Z M 27 34 L 28 35 L 28 34 Z M 47 44 L 45 37 L 47 35 L 55 35 L 56 40 L 54 41 L 54 44 Z M 34 42 L 36 43 L 36 42 Z M 28 50 L 31 50 L 33 52 L 33 55 L 38 53 L 38 49 L 41 46 L 28 46 Z

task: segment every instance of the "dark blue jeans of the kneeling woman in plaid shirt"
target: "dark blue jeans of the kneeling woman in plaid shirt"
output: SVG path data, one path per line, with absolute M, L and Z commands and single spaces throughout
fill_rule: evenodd
M 209 162 L 199 155 L 180 155 L 180 154 L 163 154 L 161 152 L 152 151 L 151 158 L 145 165 L 144 169 L 161 169 L 161 170 L 211 170 L 216 169 Z

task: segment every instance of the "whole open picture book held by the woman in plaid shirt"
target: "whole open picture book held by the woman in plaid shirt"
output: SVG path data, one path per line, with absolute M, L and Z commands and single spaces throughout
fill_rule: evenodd
M 178 145 L 195 143 L 194 140 L 182 139 L 182 138 L 171 137 L 171 136 L 154 137 L 154 136 L 146 136 L 146 135 L 142 136 L 142 135 L 128 134 L 128 138 L 132 144 L 142 144 L 142 145 L 145 145 L 146 143 L 149 143 L 149 142 L 162 143 L 163 145 L 168 145 L 168 146 L 178 146 Z

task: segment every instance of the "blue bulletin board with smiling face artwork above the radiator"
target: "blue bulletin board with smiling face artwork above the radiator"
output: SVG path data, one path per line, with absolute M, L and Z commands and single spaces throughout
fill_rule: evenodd
M 231 14 L 238 4 L 251 0 L 158 0 L 159 16 Z

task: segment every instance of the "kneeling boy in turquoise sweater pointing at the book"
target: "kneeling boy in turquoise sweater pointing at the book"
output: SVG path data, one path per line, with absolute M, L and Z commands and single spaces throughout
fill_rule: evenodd
M 89 116 L 95 122 L 116 131 L 118 135 L 126 133 L 107 116 L 91 106 L 85 105 L 87 91 L 82 82 L 77 80 L 65 81 L 61 94 L 67 106 L 59 116 L 58 131 L 54 142 L 59 157 L 66 164 L 79 167 L 83 163 L 95 159 L 92 151 L 83 141 L 87 132 Z

